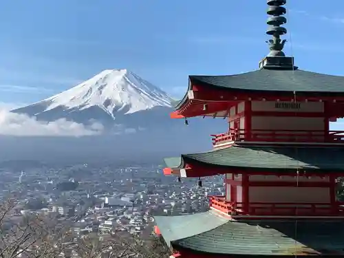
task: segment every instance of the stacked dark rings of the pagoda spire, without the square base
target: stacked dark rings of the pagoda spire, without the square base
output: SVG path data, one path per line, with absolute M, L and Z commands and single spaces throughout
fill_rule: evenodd
M 286 17 L 281 16 L 287 13 L 286 8 L 283 7 L 283 5 L 286 4 L 286 0 L 268 0 L 267 3 L 269 6 L 267 13 L 271 15 L 271 17 L 269 17 L 266 22 L 269 25 L 266 34 L 272 35 L 272 39 L 266 41 L 270 48 L 268 56 L 286 56 L 282 51 L 286 39 L 281 41 L 280 38 L 281 35 L 287 33 L 287 29 L 281 27 L 281 25 L 287 22 Z

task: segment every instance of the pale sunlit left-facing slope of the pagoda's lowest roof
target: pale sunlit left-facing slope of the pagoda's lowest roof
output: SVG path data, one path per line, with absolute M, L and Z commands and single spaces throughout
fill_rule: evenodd
M 172 241 L 204 233 L 228 222 L 213 211 L 173 217 L 155 216 L 154 219 L 169 246 Z

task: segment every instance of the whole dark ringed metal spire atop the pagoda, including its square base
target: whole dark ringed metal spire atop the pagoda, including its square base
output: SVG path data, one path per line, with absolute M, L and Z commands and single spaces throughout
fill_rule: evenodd
M 283 52 L 283 47 L 286 44 L 286 39 L 281 40 L 281 35 L 287 33 L 287 29 L 281 27 L 281 25 L 287 23 L 286 17 L 282 15 L 287 13 L 286 8 L 283 6 L 287 0 L 267 0 L 268 11 L 270 15 L 268 18 L 269 28 L 266 30 L 266 34 L 272 36 L 272 39 L 266 41 L 270 48 L 270 53 L 259 62 L 259 68 L 261 69 L 297 69 L 294 66 L 294 58 L 292 56 L 286 56 Z

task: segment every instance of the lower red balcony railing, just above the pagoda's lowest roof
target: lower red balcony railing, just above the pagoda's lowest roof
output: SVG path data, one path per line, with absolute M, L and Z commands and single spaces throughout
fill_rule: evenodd
M 246 205 L 247 208 L 244 208 L 243 202 L 228 202 L 223 196 L 211 196 L 209 199 L 209 206 L 228 215 L 344 215 L 344 207 L 340 202 L 335 206 L 328 203 L 308 202 L 250 202 Z

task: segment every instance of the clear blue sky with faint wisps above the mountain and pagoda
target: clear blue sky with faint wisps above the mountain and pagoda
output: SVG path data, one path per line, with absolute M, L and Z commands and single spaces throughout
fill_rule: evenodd
M 286 53 L 301 69 L 344 75 L 344 1 L 287 6 Z M 266 0 L 3 1 L 0 102 L 32 103 L 116 68 L 181 96 L 189 74 L 257 69 L 266 18 Z

